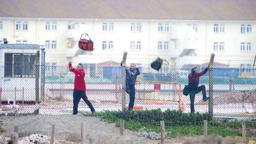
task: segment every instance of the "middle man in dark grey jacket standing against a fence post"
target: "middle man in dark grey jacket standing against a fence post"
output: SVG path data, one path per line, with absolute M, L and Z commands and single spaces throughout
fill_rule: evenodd
M 136 68 L 135 64 L 130 64 L 130 67 L 126 67 L 126 91 L 130 96 L 129 110 L 134 108 L 135 83 L 138 75 L 140 75 L 140 70 Z

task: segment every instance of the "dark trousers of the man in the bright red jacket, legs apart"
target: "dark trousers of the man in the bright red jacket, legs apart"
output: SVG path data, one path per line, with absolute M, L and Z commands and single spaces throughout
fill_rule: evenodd
M 92 112 L 95 111 L 92 103 L 87 99 L 85 91 L 84 90 L 74 90 L 74 92 L 73 92 L 73 114 L 77 114 L 78 104 L 79 104 L 79 101 L 81 100 L 81 98 L 89 106 L 89 108 L 91 109 Z

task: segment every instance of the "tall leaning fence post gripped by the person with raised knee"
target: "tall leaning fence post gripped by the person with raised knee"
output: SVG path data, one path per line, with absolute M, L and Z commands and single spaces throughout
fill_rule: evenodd
M 210 117 L 213 117 L 213 61 L 214 61 L 215 54 L 211 53 L 211 58 L 209 62 L 209 96 L 210 100 L 208 103 L 208 113 Z

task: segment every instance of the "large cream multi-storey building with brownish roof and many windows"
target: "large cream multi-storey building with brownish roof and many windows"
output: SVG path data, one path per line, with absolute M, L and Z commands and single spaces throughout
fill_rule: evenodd
M 0 43 L 45 45 L 48 66 L 119 62 L 127 51 L 128 63 L 145 67 L 157 56 L 183 66 L 215 53 L 216 62 L 249 68 L 256 54 L 254 0 L 0 2 Z M 95 51 L 79 51 L 82 33 Z

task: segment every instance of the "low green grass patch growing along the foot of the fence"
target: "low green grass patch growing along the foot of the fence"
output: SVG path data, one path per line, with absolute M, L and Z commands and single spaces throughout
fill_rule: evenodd
M 241 136 L 241 122 L 239 121 L 215 121 L 208 114 L 187 114 L 181 111 L 161 109 L 145 111 L 104 111 L 96 114 L 84 114 L 96 116 L 105 122 L 115 123 L 119 126 L 121 120 L 125 121 L 126 129 L 138 132 L 145 127 L 147 132 L 160 133 L 160 121 L 165 122 L 165 130 L 169 137 L 203 135 L 203 120 L 208 121 L 208 134 L 221 135 L 223 137 Z M 247 121 L 248 127 L 256 127 L 256 122 Z M 247 133 L 247 137 L 250 137 Z

